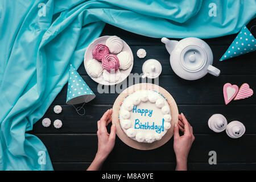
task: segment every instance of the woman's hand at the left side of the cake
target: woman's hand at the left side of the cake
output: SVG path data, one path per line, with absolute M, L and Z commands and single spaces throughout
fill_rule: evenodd
M 106 126 L 112 122 L 112 109 L 107 110 L 102 118 L 97 122 L 98 126 L 98 151 L 87 170 L 95 171 L 100 169 L 102 163 L 106 160 L 109 153 L 113 150 L 115 144 L 115 125 L 111 126 L 110 134 L 108 133 Z

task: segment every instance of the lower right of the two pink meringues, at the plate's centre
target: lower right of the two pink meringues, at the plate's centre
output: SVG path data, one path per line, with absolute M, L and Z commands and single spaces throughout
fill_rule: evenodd
M 120 65 L 117 56 L 109 54 L 102 58 L 102 67 L 108 72 L 118 71 Z

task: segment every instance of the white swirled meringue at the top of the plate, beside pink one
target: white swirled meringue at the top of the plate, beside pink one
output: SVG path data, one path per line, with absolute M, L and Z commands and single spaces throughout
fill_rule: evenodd
M 106 46 L 109 48 L 110 53 L 119 53 L 123 49 L 123 40 L 118 38 L 118 36 L 110 36 L 106 40 Z

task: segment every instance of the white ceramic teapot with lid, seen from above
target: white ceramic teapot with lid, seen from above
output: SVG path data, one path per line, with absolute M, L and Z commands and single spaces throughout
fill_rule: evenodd
M 166 44 L 171 67 L 177 76 L 185 80 L 197 80 L 207 73 L 220 75 L 220 69 L 212 66 L 212 50 L 203 40 L 185 38 L 178 42 L 162 38 L 161 42 Z

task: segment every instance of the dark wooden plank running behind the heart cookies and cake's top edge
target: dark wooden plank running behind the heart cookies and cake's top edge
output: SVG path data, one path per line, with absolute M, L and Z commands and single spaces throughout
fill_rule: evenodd
M 107 89 L 108 93 L 98 93 L 97 86 L 98 84 L 94 82 L 89 76 L 82 76 L 82 78 L 86 81 L 89 87 L 96 94 L 96 98 L 90 101 L 86 105 L 109 105 L 113 104 L 115 98 L 117 98 L 118 93 L 110 94 L 110 88 L 118 90 L 118 86 L 103 86 L 100 87 L 99 91 L 104 92 L 104 88 Z M 183 80 L 177 76 L 160 76 L 159 85 L 166 89 L 171 93 L 172 97 L 174 97 L 177 104 L 224 104 L 223 98 L 223 85 L 226 82 L 230 82 L 232 84 L 237 84 L 238 86 L 247 82 L 251 88 L 256 88 L 256 75 L 222 75 L 219 77 L 214 77 L 212 75 L 207 75 L 200 80 L 188 81 Z M 130 86 L 127 84 L 127 80 L 123 81 L 123 85 Z M 132 83 L 134 84 L 134 83 Z M 131 85 L 132 85 L 131 84 Z M 114 89 L 116 88 L 116 89 Z M 123 89 L 125 89 L 124 87 Z M 122 90 L 122 89 L 121 89 Z M 55 101 L 53 101 L 53 105 L 56 104 L 65 104 L 65 100 L 67 97 L 67 84 L 61 90 L 59 95 L 56 97 Z M 255 94 L 254 96 L 244 99 L 230 102 L 229 105 L 239 105 L 239 104 L 255 104 L 256 102 Z

